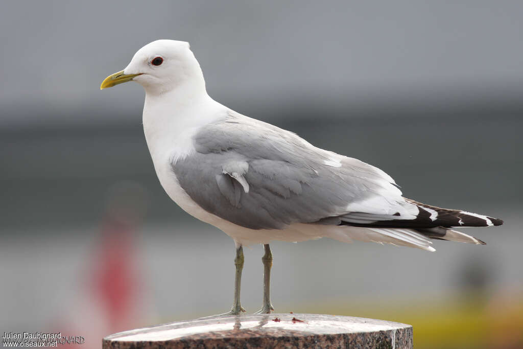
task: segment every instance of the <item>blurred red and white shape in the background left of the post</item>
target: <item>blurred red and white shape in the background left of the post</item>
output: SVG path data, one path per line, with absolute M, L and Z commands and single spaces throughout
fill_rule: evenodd
M 145 325 L 149 318 L 136 233 L 145 214 L 144 189 L 122 182 L 108 191 L 101 234 L 95 239 L 72 305 L 53 332 L 82 336 L 82 347 L 99 348 L 104 336 Z M 65 344 L 63 347 L 77 346 Z

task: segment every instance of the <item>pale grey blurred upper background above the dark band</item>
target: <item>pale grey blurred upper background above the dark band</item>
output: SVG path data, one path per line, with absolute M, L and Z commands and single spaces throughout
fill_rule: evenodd
M 140 114 L 143 91 L 99 91 L 145 43 L 186 40 L 209 93 L 249 105 L 520 95 L 523 3 L 3 2 L 0 127 Z M 498 95 L 496 97 L 496 94 Z M 370 96 L 370 97 L 369 97 Z M 290 101 L 290 102 L 289 102 Z M 50 117 L 48 115 L 51 115 Z M 116 117 L 116 116 L 115 116 Z

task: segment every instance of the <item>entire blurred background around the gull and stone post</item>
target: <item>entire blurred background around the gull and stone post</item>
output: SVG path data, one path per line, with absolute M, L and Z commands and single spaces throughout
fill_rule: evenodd
M 209 94 L 374 164 L 428 204 L 505 220 L 436 253 L 271 244 L 278 312 L 410 323 L 416 347 L 523 346 L 523 3 L 0 5 L 0 331 L 102 336 L 227 311 L 234 243 L 158 183 L 143 89 L 100 82 L 189 41 Z M 261 306 L 260 246 L 242 305 Z M 311 258 L 314 256 L 314 258 Z

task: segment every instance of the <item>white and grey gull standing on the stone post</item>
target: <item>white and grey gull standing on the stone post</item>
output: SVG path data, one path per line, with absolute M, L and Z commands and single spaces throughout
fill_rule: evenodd
M 143 129 L 167 195 L 235 242 L 234 300 L 240 302 L 243 246 L 262 244 L 263 305 L 270 313 L 271 241 L 331 238 L 436 251 L 431 239 L 485 244 L 452 228 L 502 220 L 407 199 L 388 174 L 314 147 L 297 134 L 213 100 L 189 43 L 157 40 L 108 76 L 104 89 L 135 81 L 145 89 Z

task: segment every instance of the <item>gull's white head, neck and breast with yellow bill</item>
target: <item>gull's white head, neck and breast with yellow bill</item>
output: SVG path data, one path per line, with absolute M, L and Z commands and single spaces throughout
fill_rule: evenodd
M 194 152 L 192 137 L 223 118 L 228 109 L 207 94 L 200 64 L 185 41 L 146 44 L 124 70 L 108 76 L 100 88 L 128 81 L 145 89 L 142 121 L 147 146 L 166 192 L 179 197 L 172 194 L 178 186 L 172 181 L 171 163 Z

